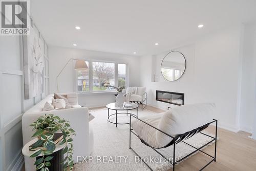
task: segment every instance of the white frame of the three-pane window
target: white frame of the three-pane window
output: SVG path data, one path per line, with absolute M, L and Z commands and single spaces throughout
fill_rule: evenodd
M 112 63 L 115 65 L 115 86 L 118 86 L 118 64 L 125 64 L 125 89 L 129 85 L 129 74 L 128 74 L 128 64 L 125 62 L 116 62 L 116 61 L 104 61 L 104 60 L 87 60 L 87 59 L 82 59 L 84 61 L 87 61 L 89 63 L 89 91 L 78 91 L 78 82 L 77 82 L 77 70 L 75 70 L 75 92 L 79 94 L 86 94 L 86 93 L 114 93 L 117 92 L 117 90 L 99 90 L 95 91 L 93 90 L 93 62 L 102 62 L 102 63 Z

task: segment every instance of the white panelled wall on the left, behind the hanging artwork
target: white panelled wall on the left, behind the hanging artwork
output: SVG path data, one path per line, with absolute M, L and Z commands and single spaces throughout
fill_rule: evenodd
M 48 94 L 45 90 L 35 98 L 24 100 L 22 47 L 22 36 L 0 36 L 0 171 L 22 168 L 22 115 Z M 48 65 L 46 44 L 45 47 Z M 49 89 L 49 75 L 45 74 L 46 87 Z

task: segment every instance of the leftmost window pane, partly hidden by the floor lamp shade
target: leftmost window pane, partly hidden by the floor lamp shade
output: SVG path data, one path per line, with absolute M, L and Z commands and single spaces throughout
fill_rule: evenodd
M 89 67 L 89 62 L 86 61 Z M 77 91 L 89 91 L 89 70 L 77 70 Z

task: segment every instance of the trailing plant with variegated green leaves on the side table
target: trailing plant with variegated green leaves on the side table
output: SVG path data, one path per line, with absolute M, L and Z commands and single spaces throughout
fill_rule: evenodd
M 70 128 L 68 121 L 60 119 L 58 116 L 45 115 L 39 117 L 30 126 L 33 127 L 35 133 L 32 137 L 37 137 L 36 143 L 33 144 L 33 148 L 42 147 L 37 149 L 30 157 L 37 157 L 42 155 L 41 158 L 37 159 L 34 165 L 37 165 L 36 170 L 48 171 L 47 166 L 51 165 L 52 156 L 56 145 L 53 142 L 53 136 L 57 131 L 61 131 L 63 134 L 63 140 L 60 145 L 66 144 L 63 148 L 63 154 L 67 154 L 67 157 L 63 160 L 63 167 L 65 170 L 72 170 L 73 168 L 73 139 L 72 136 L 75 135 L 74 129 Z

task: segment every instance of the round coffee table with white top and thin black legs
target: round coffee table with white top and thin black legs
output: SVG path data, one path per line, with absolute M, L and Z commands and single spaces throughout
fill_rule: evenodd
M 130 122 L 127 122 L 127 123 L 118 123 L 118 122 L 117 122 L 117 115 L 126 114 L 126 116 L 128 116 L 128 114 L 129 114 L 129 115 L 133 115 L 133 116 L 139 118 L 139 105 L 137 105 L 137 104 L 135 104 L 135 103 L 129 103 L 129 104 L 131 104 L 132 107 L 118 106 L 116 103 L 107 104 L 107 105 L 106 105 L 106 108 L 108 108 L 108 121 L 109 121 L 110 123 L 116 124 L 116 127 L 117 127 L 117 125 L 130 124 Z M 133 110 L 133 109 L 137 109 L 137 116 L 136 116 L 135 114 L 133 114 L 133 113 L 128 112 L 128 110 Z M 116 112 L 115 112 L 114 114 L 110 115 L 110 110 L 115 110 Z M 118 110 L 119 110 L 120 112 L 117 112 Z M 125 110 L 126 110 L 126 112 L 124 112 Z M 110 120 L 110 118 L 113 119 L 112 116 L 115 117 L 116 122 L 112 122 L 112 121 Z

